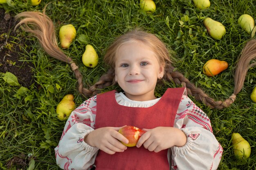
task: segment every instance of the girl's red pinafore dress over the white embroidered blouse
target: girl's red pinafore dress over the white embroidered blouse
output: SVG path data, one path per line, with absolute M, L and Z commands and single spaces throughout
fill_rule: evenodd
M 119 105 L 115 99 L 116 91 L 99 94 L 95 128 L 125 125 L 141 129 L 173 127 L 184 89 L 168 88 L 162 98 L 148 108 Z M 167 151 L 150 152 L 143 145 L 140 148 L 128 147 L 124 152 L 114 155 L 99 150 L 95 160 L 96 170 L 169 170 Z

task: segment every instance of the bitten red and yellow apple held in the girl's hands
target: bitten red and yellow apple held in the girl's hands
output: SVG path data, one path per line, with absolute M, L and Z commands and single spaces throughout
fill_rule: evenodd
M 132 147 L 136 146 L 139 138 L 146 132 L 144 130 L 141 130 L 139 128 L 136 128 L 135 126 L 124 126 L 118 131 L 124 137 L 126 137 L 129 141 L 128 144 L 125 144 L 124 142 L 121 142 L 125 146 Z

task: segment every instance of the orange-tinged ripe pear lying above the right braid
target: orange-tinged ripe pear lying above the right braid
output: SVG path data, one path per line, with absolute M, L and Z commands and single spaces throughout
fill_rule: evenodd
M 227 69 L 229 64 L 217 59 L 208 60 L 203 66 L 203 73 L 209 77 L 219 74 Z

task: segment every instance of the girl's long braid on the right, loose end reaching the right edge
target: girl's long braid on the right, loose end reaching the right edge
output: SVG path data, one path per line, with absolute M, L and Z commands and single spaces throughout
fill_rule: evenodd
M 229 96 L 225 101 L 214 101 L 211 97 L 205 94 L 202 89 L 196 88 L 194 84 L 189 82 L 181 73 L 174 71 L 171 62 L 167 61 L 165 79 L 173 80 L 176 84 L 182 85 L 187 88 L 187 93 L 195 97 L 196 100 L 206 104 L 211 108 L 223 109 L 229 107 L 236 100 L 236 95 L 243 88 L 245 77 L 249 68 L 256 65 L 252 60 L 256 59 L 256 40 L 249 40 L 243 50 L 241 51 L 240 58 L 236 64 L 236 72 L 234 76 L 234 93 Z M 250 64 L 250 62 L 252 62 Z

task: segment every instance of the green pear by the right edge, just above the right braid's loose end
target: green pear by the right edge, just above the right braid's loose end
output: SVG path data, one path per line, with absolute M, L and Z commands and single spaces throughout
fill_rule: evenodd
M 238 18 L 238 24 L 242 27 L 242 29 L 250 34 L 254 28 L 254 19 L 251 15 L 243 14 Z

